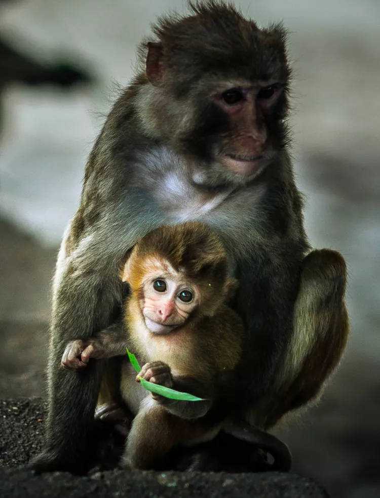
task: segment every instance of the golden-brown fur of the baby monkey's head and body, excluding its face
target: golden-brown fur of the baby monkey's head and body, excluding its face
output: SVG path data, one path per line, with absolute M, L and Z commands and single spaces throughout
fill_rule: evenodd
M 198 309 L 186 322 L 168 335 L 156 335 L 143 321 L 142 282 L 146 274 L 152 273 L 152 267 L 153 273 L 160 274 L 164 263 L 197 285 L 201 295 Z M 160 460 L 178 444 L 211 439 L 221 427 L 223 414 L 217 417 L 217 423 L 205 420 L 204 415 L 218 400 L 222 376 L 233 371 L 242 354 L 243 324 L 224 305 L 236 281 L 229 277 L 229 261 L 217 236 L 206 225 L 195 222 L 164 225 L 147 234 L 134 247 L 121 273 L 130 284 L 131 293 L 125 304 L 125 329 L 120 335 L 124 335 L 140 364 L 165 363 L 170 367 L 174 386 L 179 382 L 178 390 L 191 392 L 195 386 L 198 392 L 208 395 L 205 402 L 178 402 L 160 396 L 161 404 L 151 402 L 146 407 L 145 402 L 141 403 L 123 461 L 133 468 L 159 468 Z M 105 332 L 98 339 L 106 336 Z M 130 371 L 124 368 L 122 372 L 121 397 L 128 405 L 133 385 L 123 381 L 123 376 L 131 375 Z M 112 411 L 113 402 L 117 401 L 112 399 L 113 391 L 115 377 L 108 372 L 101 385 L 99 404 L 107 400 Z

